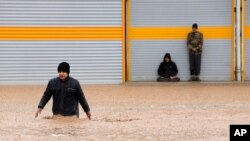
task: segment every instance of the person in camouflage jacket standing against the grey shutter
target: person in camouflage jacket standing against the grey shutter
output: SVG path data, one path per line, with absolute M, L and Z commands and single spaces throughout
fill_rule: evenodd
M 203 45 L 203 34 L 198 31 L 198 25 L 192 26 L 192 32 L 187 36 L 187 47 L 189 50 L 190 81 L 201 81 L 199 78 L 201 70 L 201 53 Z

